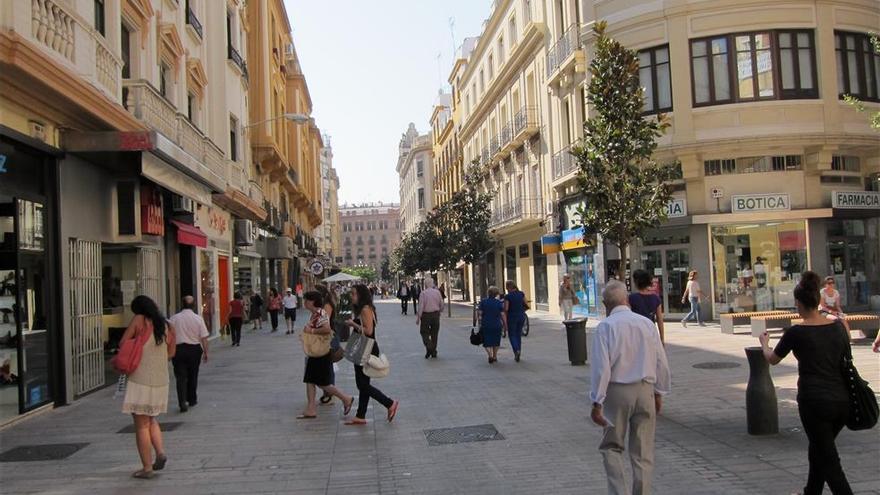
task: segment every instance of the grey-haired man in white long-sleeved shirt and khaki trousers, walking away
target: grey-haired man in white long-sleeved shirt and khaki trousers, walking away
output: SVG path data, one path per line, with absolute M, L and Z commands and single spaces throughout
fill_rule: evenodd
M 608 317 L 593 334 L 590 416 L 605 427 L 599 451 L 608 476 L 608 493 L 630 493 L 623 473 L 623 450 L 628 445 L 632 493 L 648 494 L 654 471 L 657 413 L 671 382 L 669 364 L 657 328 L 651 320 L 632 312 L 622 282 L 609 282 L 602 299 Z

